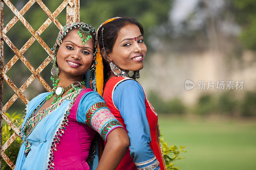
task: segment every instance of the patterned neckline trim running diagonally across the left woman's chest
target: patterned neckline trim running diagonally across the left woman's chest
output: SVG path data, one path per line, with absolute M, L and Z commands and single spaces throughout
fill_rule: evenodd
M 67 96 L 64 96 L 60 101 L 56 102 L 52 106 L 42 110 L 38 114 L 32 116 L 27 122 L 25 123 L 24 126 L 24 134 L 26 137 L 33 131 L 33 129 L 36 127 L 37 123 L 39 123 L 45 116 L 49 115 L 52 111 L 57 109 L 61 103 L 63 103 L 64 100 L 70 100 L 72 97 L 76 95 L 76 93 L 70 93 Z

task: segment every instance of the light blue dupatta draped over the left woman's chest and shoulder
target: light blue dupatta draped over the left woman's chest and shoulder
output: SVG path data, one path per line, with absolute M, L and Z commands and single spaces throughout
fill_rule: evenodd
M 51 150 L 52 150 L 52 142 L 56 141 L 55 135 L 57 135 L 57 131 L 61 128 L 61 124 L 63 124 L 65 115 L 69 115 L 70 108 L 76 100 L 79 92 L 82 89 L 77 90 L 76 92 L 70 93 L 69 95 L 63 97 L 61 104 L 54 109 L 51 113 L 41 119 L 40 122 L 37 123 L 36 127 L 28 136 L 28 141 L 31 142 L 31 151 L 28 153 L 27 157 L 25 156 L 26 145 L 25 142 L 22 143 L 20 147 L 20 152 L 16 161 L 15 170 L 21 169 L 46 169 L 49 166 L 49 159 L 51 159 Z M 39 94 L 33 100 L 31 100 L 27 105 L 27 115 L 24 118 L 22 123 L 22 128 L 24 128 L 24 124 L 27 122 L 28 117 L 32 114 L 32 112 L 36 109 L 36 107 L 45 99 L 45 97 L 50 92 Z M 57 103 L 56 103 L 57 104 Z M 21 129 L 22 129 L 21 128 Z M 26 136 L 21 133 L 22 140 L 26 140 Z M 40 137 L 40 139 L 36 139 L 36 137 Z M 40 142 L 38 142 L 40 141 Z M 34 156 L 37 155 L 37 156 Z M 51 166 L 51 165 L 50 165 Z

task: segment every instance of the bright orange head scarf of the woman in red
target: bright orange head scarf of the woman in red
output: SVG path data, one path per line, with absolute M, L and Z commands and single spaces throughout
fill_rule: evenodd
M 115 17 L 115 18 L 111 18 L 106 20 L 105 22 L 103 22 L 99 28 L 97 29 L 96 32 L 96 39 L 98 42 L 98 31 L 100 29 L 101 26 L 105 25 L 106 23 L 113 21 L 117 18 L 121 18 L 121 17 Z M 96 75 L 96 86 L 97 86 L 97 92 L 102 96 L 103 94 L 103 83 L 104 83 L 104 75 L 103 75 L 103 62 L 102 62 L 102 57 L 100 55 L 100 47 L 99 44 L 97 44 L 97 54 L 96 54 L 96 70 L 95 70 L 95 75 Z

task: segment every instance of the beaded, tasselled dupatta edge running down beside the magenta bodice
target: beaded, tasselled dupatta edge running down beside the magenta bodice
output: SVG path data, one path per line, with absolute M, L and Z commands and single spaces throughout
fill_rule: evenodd
M 65 110 L 65 114 L 63 115 L 63 118 L 61 119 L 59 126 L 55 130 L 53 138 L 50 142 L 49 151 L 48 151 L 48 155 L 47 155 L 47 160 L 49 160 L 49 161 L 46 164 L 47 170 L 54 169 L 53 150 L 57 151 L 56 144 L 59 143 L 60 137 L 62 136 L 62 134 L 64 134 L 64 130 L 66 130 L 64 125 L 68 126 L 68 115 L 70 115 L 70 109 L 74 105 L 79 93 L 82 92 L 83 90 L 84 89 L 78 89 L 77 91 L 70 93 L 70 94 L 73 94 L 71 97 L 71 101 L 69 102 L 68 108 Z

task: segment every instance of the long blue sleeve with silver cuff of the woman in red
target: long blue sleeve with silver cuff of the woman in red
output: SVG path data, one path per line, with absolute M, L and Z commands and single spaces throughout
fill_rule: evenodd
M 151 136 L 141 85 L 131 79 L 120 83 L 114 90 L 113 101 L 124 119 L 130 137 L 130 155 L 137 168 L 159 169 L 159 163 L 149 146 Z

